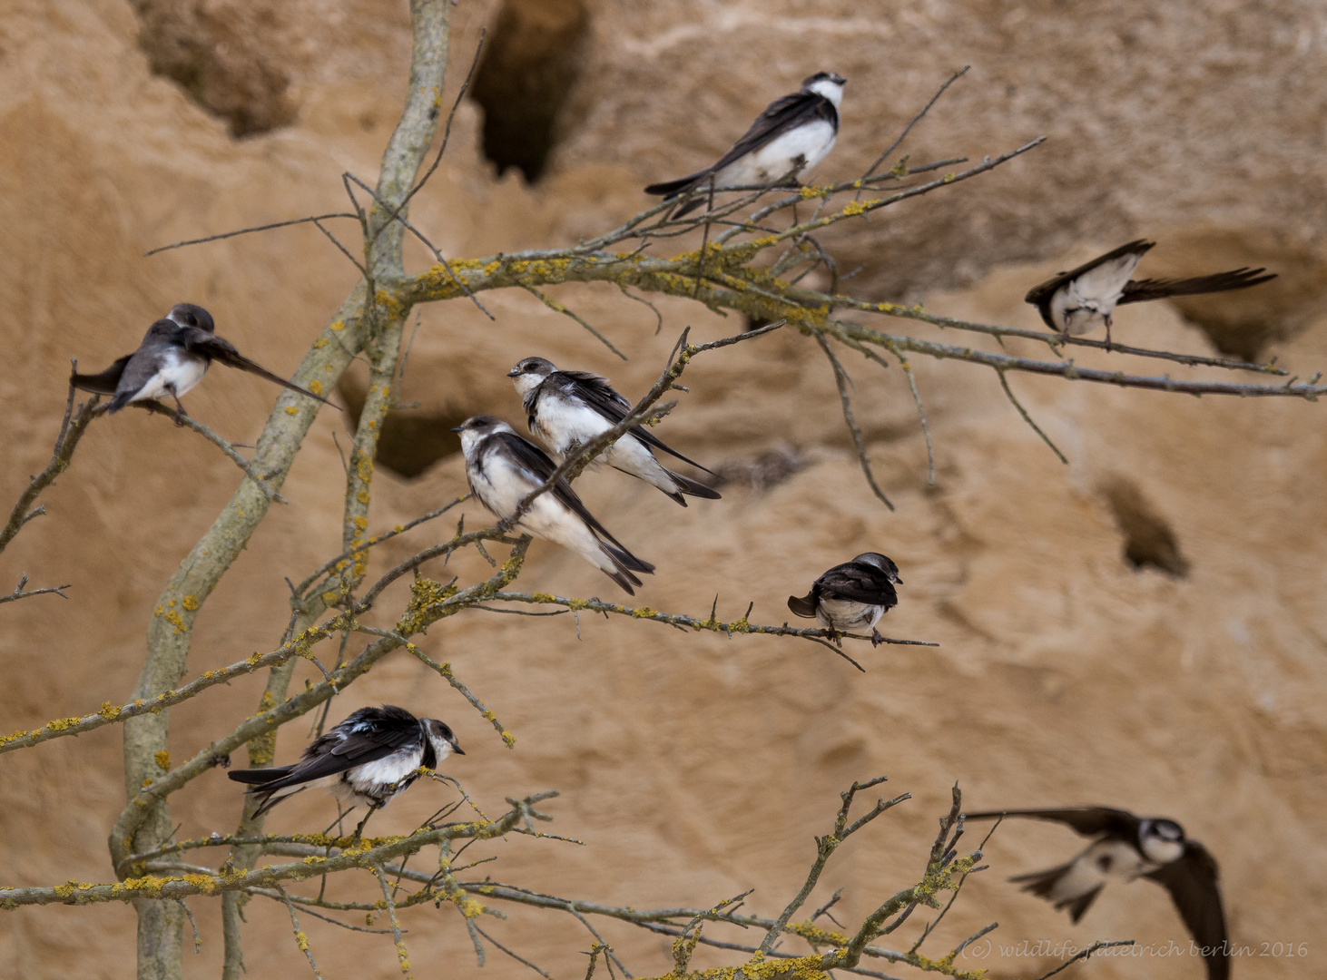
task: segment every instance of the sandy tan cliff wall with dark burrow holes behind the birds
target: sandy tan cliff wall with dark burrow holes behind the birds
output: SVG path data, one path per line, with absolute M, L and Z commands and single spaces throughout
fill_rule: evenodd
M 1250 294 L 1185 308 L 1192 320 L 1161 304 L 1131 309 L 1119 318 L 1121 341 L 1210 351 L 1217 338 L 1227 349 L 1277 354 L 1302 374 L 1316 370 L 1327 362 L 1320 8 L 1233 0 L 1074 7 L 1071 15 L 1048 0 L 592 3 L 581 9 L 577 70 L 556 76 L 565 98 L 545 113 L 552 135 L 541 178 L 532 186 L 515 170 L 498 178 L 483 155 L 483 113 L 466 103 L 413 216 L 447 255 L 575 240 L 633 214 L 648 203 L 642 183 L 706 162 L 767 101 L 825 66 L 851 80 L 843 141 L 823 171 L 845 178 L 864 170 L 950 70 L 971 64 L 900 153 L 981 158 L 1035 135 L 1050 141 L 947 198 L 909 203 L 832 239 L 845 268 L 865 267 L 856 289 L 1032 328 L 1035 312 L 1020 301 L 1028 285 L 1093 249 L 1149 235 L 1162 241 L 1153 273 L 1206 269 L 1216 256 L 1221 268 L 1265 264 L 1286 275 L 1259 293 L 1262 302 Z M 146 1 L 9 0 L 0 16 L 0 332 L 8 351 L 0 499 L 13 499 L 49 454 L 70 357 L 98 369 L 188 298 L 212 310 L 242 350 L 289 370 L 353 284 L 349 263 L 308 228 L 141 256 L 173 240 L 340 210 L 341 171 L 372 175 L 394 119 L 409 54 L 403 4 L 163 11 Z M 454 86 L 479 27 L 499 13 L 495 4 L 462 3 L 456 17 Z M 166 54 L 179 48 L 200 52 L 184 58 L 194 68 L 169 68 Z M 174 74 L 154 74 L 154 64 Z M 251 135 L 232 137 L 245 127 Z M 519 418 L 503 374 L 520 355 L 598 370 L 640 391 L 683 325 L 705 338 L 736 329 L 733 318 L 670 301 L 654 336 L 653 314 L 616 290 L 568 288 L 559 298 L 632 359 L 617 361 L 525 294 L 486 297 L 495 324 L 464 302 L 426 309 L 405 383 L 405 397 L 422 403 L 418 432 L 480 410 Z M 1092 354 L 1079 363 L 1141 367 Z M 446 717 L 468 753 L 454 773 L 495 806 L 507 794 L 561 789 L 551 806 L 555 829 L 587 846 L 518 839 L 500 849 L 494 877 L 564 895 L 707 904 L 755 886 L 751 907 L 772 911 L 800 882 L 811 834 L 827 827 L 836 793 L 886 773 L 894 792 L 914 800 L 827 875 L 827 894 L 845 887 L 849 918 L 914 878 L 957 780 L 974 806 L 1105 802 L 1172 816 L 1221 861 L 1235 939 L 1315 944 L 1327 930 L 1323 408 L 1013 378 L 1068 456 L 1066 467 L 994 378 L 922 362 L 937 446 L 937 480 L 928 487 L 901 374 L 857 361 L 849 370 L 896 513 L 860 479 L 829 370 L 795 334 L 698 361 L 691 394 L 666 430 L 706 463 L 738 468 L 792 451 L 803 469 L 762 491 L 733 484 L 725 500 L 686 511 L 613 473 L 589 475 L 584 492 L 624 542 L 658 565 L 640 597 L 656 609 L 703 613 L 718 593 L 721 613 L 738 615 L 754 601 L 754 621 L 783 622 L 790 591 L 873 548 L 898 561 L 906 582 L 889 631 L 934 639 L 938 650 L 856 651 L 868 667 L 859 675 L 808 643 L 689 639 L 652 623 L 589 618 L 577 641 L 571 622 L 545 630 L 476 613 L 433 631 L 425 648 L 486 698 L 518 735 L 514 752 L 403 659 L 348 691 L 336 716 L 394 700 Z M 353 378 L 346 394 L 353 400 Z M 252 440 L 271 400 L 264 382 L 222 369 L 187 398 L 191 412 L 236 442 Z M 402 444 L 423 439 L 418 432 Z M 344 419 L 326 411 L 287 484 L 291 505 L 273 511 L 204 607 L 191 672 L 271 648 L 288 615 L 283 577 L 299 580 L 337 550 L 334 434 L 344 444 Z M 0 587 L 20 572 L 35 585 L 73 583 L 68 602 L 0 607 L 5 731 L 125 695 L 161 583 L 235 485 L 227 460 L 165 419 L 126 412 L 97 424 L 48 495 L 49 513 L 0 561 L 8 577 Z M 413 480 L 384 475 L 373 525 L 422 513 L 462 485 L 455 456 Z M 467 522 L 479 520 L 467 509 Z M 1169 532 L 1186 577 L 1132 568 L 1121 526 L 1135 536 Z M 423 528 L 380 561 L 445 533 L 450 526 Z M 478 574 L 476 561 L 454 570 Z M 612 589 L 541 544 L 527 569 L 522 581 L 532 589 Z M 236 683 L 176 711 L 173 752 L 184 757 L 227 731 L 260 687 Z M 283 757 L 303 733 L 289 727 Z M 114 727 L 0 760 L 0 878 L 106 881 L 105 834 L 122 805 L 119 760 Z M 434 809 L 433 793 L 414 790 L 394 804 L 376 818 L 378 830 L 410 826 Z M 283 810 L 275 830 L 321 827 L 329 804 L 309 794 Z M 224 833 L 238 814 L 234 786 L 219 772 L 199 780 L 174 814 L 182 835 Z M 1075 846 L 1067 831 L 1003 827 L 989 849 L 993 871 L 965 888 L 940 942 L 991 920 L 1009 943 L 1182 935 L 1164 892 L 1147 883 L 1112 886 L 1078 927 L 1005 883 Z M 204 902 L 194 911 L 204 944 L 187 967 L 191 976 L 214 976 L 216 915 Z M 284 912 L 251 906 L 251 976 L 305 968 Z M 415 976 L 475 969 L 454 910 L 427 910 L 407 926 Z M 512 923 L 495 923 L 495 935 L 555 976 L 577 976 L 588 938 L 575 926 L 518 911 Z M 389 938 L 314 930 L 326 975 L 395 975 Z M 638 975 L 666 968 L 660 938 L 612 939 Z M 125 976 L 131 949 L 126 908 L 0 919 L 0 961 L 15 964 L 15 976 Z M 1052 964 L 997 956 L 969 965 L 1031 977 Z M 1075 969 L 1103 979 L 1201 976 L 1196 961 L 1178 957 Z M 523 968 L 490 951 L 486 971 L 518 976 Z M 1235 971 L 1307 975 L 1302 961 L 1285 959 Z

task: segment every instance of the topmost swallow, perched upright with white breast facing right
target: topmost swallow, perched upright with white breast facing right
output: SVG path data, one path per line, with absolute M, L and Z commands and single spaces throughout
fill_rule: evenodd
M 833 72 L 816 72 L 802 82 L 802 90 L 775 99 L 751 123 L 751 129 L 718 162 L 677 180 L 650 184 L 646 194 L 673 200 L 681 194 L 709 184 L 740 187 L 775 180 L 798 180 L 833 149 L 839 138 L 839 103 L 847 80 Z M 705 200 L 687 202 L 677 217 L 702 207 Z

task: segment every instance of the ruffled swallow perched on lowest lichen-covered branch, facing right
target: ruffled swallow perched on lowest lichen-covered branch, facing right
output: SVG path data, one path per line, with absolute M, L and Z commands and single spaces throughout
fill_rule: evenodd
M 360 708 L 314 739 L 295 765 L 227 774 L 236 782 L 252 784 L 248 792 L 261 804 L 255 817 L 309 786 L 326 786 L 338 805 L 368 804 L 372 812 L 407 789 L 421 765 L 437 769 L 453 753 L 466 755 L 442 721 L 384 704 Z

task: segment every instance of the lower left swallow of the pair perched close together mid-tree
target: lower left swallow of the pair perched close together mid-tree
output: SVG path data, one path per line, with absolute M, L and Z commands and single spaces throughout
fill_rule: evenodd
M 470 489 L 499 520 L 515 515 L 518 504 L 544 485 L 557 468 L 543 450 L 492 415 L 474 415 L 453 431 L 460 432 Z M 516 530 L 575 552 L 622 586 L 628 595 L 636 594 L 633 585 L 641 585 L 633 572 L 654 572 L 653 565 L 628 552 L 594 520 L 565 480 L 535 497 L 516 521 Z

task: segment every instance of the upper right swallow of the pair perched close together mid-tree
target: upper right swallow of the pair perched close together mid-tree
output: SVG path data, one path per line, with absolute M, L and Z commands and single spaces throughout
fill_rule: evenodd
M 531 434 L 539 436 L 549 450 L 561 456 L 606 432 L 632 411 L 632 403 L 613 390 L 608 378 L 589 371 L 559 371 L 541 357 L 518 361 L 516 366 L 507 371 L 507 377 L 516 385 L 516 394 L 525 406 Z M 686 507 L 683 495 L 707 500 L 719 499 L 719 495 L 703 483 L 665 469 L 654 459 L 652 448 L 677 456 L 697 469 L 705 469 L 695 460 L 670 450 L 644 426 L 629 430 L 594 463 L 601 459 L 614 469 L 638 476 L 645 483 L 658 487 L 682 507 Z M 705 469 L 705 472 L 711 471 Z

